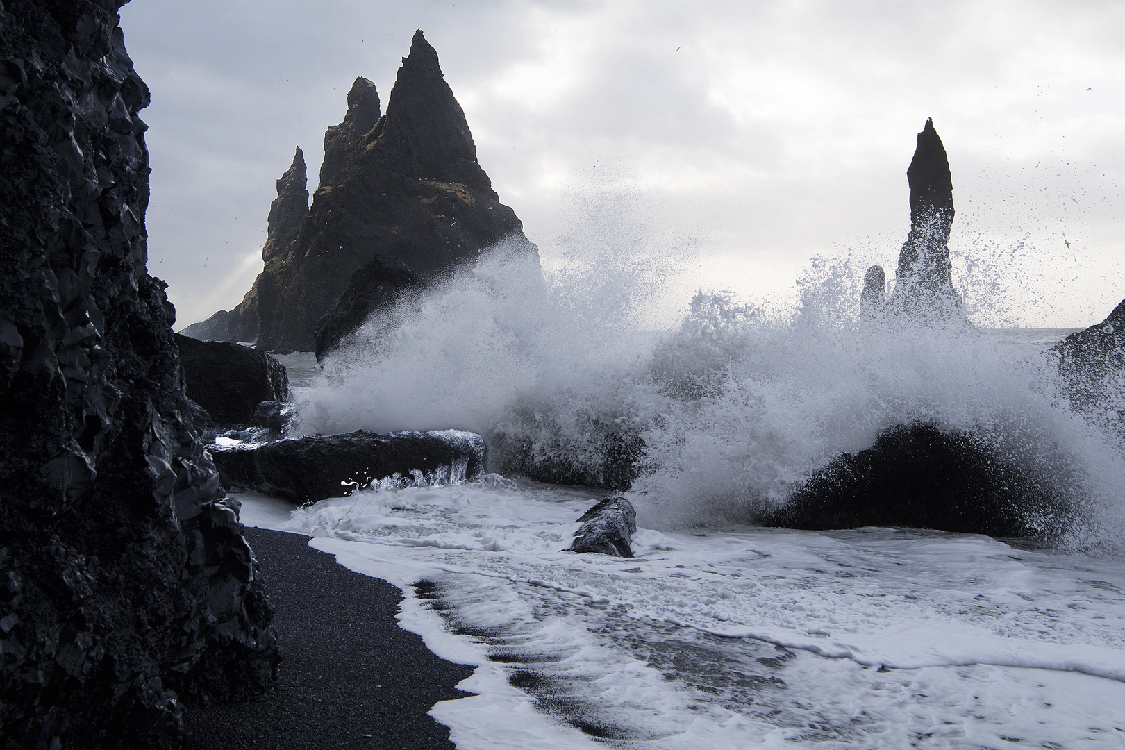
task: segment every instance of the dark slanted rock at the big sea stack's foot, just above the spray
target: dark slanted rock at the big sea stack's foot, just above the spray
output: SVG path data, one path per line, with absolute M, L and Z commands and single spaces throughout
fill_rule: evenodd
M 422 286 L 422 279 L 397 257 L 379 255 L 361 266 L 352 274 L 344 293 L 321 318 L 315 338 L 317 361 L 359 329 L 372 313 L 389 307 L 405 291 L 421 290 Z

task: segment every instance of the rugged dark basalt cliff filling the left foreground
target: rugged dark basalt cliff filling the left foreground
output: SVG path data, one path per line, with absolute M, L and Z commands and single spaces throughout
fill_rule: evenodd
M 177 694 L 270 689 L 271 609 L 145 270 L 115 0 L 0 9 L 0 738 L 161 748 Z

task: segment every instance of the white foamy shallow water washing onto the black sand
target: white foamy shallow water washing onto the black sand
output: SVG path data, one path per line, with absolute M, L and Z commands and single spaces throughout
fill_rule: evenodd
M 495 476 L 289 518 L 243 497 L 250 523 L 403 588 L 403 625 L 478 666 L 477 697 L 434 708 L 462 749 L 1125 744 L 1116 563 L 875 528 L 640 528 L 631 560 L 561 552 L 594 499 Z

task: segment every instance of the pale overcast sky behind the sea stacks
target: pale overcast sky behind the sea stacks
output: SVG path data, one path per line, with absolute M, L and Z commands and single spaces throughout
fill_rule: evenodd
M 651 320 L 698 288 L 789 299 L 817 255 L 892 275 L 927 117 L 978 323 L 1086 326 L 1125 296 L 1116 0 L 134 0 L 122 26 L 178 327 L 238 302 L 294 146 L 312 192 L 351 82 L 385 103 L 415 28 L 546 270 L 663 269 Z

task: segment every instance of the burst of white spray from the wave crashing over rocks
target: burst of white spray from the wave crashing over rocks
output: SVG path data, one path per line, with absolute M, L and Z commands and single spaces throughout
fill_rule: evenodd
M 651 269 L 595 261 L 544 280 L 502 243 L 330 356 L 299 430 L 469 430 L 493 462 L 519 446 L 592 472 L 639 437 L 639 521 L 676 528 L 745 523 L 881 431 L 929 423 L 976 435 L 1066 498 L 1077 513 L 1042 528 L 1052 542 L 1120 554 L 1125 404 L 1072 408 L 1050 344 L 864 319 L 862 279 L 849 261 L 814 259 L 792 306 L 700 292 L 678 327 L 649 332 L 636 310 L 659 286 Z M 980 317 L 986 305 L 974 318 L 1004 319 Z

